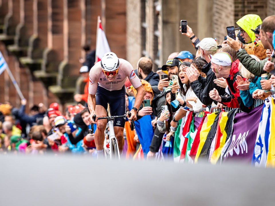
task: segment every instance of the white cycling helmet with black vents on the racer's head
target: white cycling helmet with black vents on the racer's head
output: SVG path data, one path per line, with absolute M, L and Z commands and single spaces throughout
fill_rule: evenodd
M 119 67 L 119 59 L 113 52 L 107 52 L 101 59 L 101 68 L 107 72 L 113 72 Z

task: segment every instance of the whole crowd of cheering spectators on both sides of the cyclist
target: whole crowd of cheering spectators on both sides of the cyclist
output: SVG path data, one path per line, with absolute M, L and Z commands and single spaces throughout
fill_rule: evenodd
M 258 15 L 248 14 L 236 23 L 236 39 L 227 36 L 221 44 L 212 37 L 200 41 L 187 25 L 183 35 L 190 38 L 196 54 L 173 52 L 157 73 L 152 71 L 150 58 L 140 58 L 135 72 L 145 88 L 144 100 L 150 105 L 138 109 L 133 132 L 126 121 L 122 157 L 135 158 L 139 152 L 142 156 L 138 157 L 144 159 L 172 158 L 176 130 L 182 128 L 188 112 L 197 114 L 215 106 L 239 108 L 248 113 L 256 99 L 264 100 L 274 94 L 275 15 L 262 21 Z M 89 68 L 84 65 L 80 69 L 88 83 Z M 265 79 L 262 74 L 266 74 Z M 137 92 L 128 80 L 125 89 L 129 111 Z M 87 102 L 87 94 L 76 94 L 74 99 Z M 21 100 L 20 108 L 9 102 L 0 105 L 1 152 L 95 156 L 87 107 L 70 105 L 62 114 L 58 103 L 49 108 L 40 103 L 26 114 L 25 105 L 26 100 Z M 108 128 L 105 132 L 108 137 Z

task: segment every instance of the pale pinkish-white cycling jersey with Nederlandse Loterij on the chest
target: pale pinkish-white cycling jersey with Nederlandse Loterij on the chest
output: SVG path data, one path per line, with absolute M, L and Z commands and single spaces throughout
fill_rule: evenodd
M 134 88 L 142 85 L 132 65 L 128 61 L 119 59 L 119 70 L 113 82 L 107 80 L 102 72 L 101 63 L 97 62 L 90 70 L 89 94 L 95 95 L 97 84 L 109 91 L 120 90 L 124 86 L 127 77 Z

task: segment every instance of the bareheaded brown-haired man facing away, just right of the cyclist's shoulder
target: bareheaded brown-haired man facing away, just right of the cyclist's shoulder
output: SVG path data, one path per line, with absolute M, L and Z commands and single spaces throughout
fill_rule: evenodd
M 137 62 L 137 75 L 140 79 L 146 80 L 151 86 L 158 85 L 159 75 L 152 71 L 152 60 L 147 57 L 142 57 Z

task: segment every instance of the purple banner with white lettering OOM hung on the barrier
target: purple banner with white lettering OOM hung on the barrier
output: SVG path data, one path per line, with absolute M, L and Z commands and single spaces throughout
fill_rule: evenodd
M 233 132 L 228 149 L 224 154 L 224 162 L 251 163 L 262 107 L 261 105 L 249 113 L 241 112 L 235 115 Z

